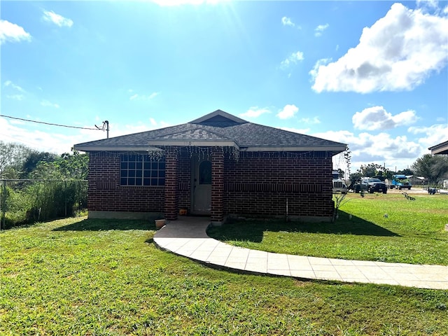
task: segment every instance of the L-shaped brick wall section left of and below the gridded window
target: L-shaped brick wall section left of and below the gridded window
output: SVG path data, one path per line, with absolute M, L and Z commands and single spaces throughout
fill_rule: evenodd
M 90 211 L 160 212 L 164 187 L 120 186 L 120 156 L 90 153 Z

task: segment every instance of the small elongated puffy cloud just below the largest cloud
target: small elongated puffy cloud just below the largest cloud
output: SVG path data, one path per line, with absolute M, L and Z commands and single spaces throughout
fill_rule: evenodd
M 415 111 L 404 111 L 395 116 L 387 112 L 383 106 L 372 106 L 356 112 L 351 118 L 353 126 L 358 130 L 391 130 L 399 126 L 406 126 L 416 122 Z

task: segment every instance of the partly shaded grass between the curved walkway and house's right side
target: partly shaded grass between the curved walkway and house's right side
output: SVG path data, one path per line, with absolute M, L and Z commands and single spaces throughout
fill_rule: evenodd
M 335 223 L 239 221 L 209 235 L 276 253 L 448 265 L 448 196 L 413 196 L 350 193 Z

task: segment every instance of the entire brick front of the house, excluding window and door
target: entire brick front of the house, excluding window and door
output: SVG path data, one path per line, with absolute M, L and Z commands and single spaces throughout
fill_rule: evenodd
M 331 155 L 241 152 L 237 161 L 229 158 L 228 153 L 221 160 L 221 151 L 214 151 L 213 155 L 214 172 L 222 174 L 213 177 L 215 182 L 219 181 L 212 187 L 214 221 L 220 221 L 226 214 L 284 216 L 286 202 L 289 216 L 332 216 Z M 191 205 L 190 155 L 178 153 L 176 162 L 176 183 L 170 186 L 177 193 L 176 199 L 169 201 L 172 217 L 174 209 L 190 210 Z M 91 153 L 89 169 L 89 210 L 167 211 L 165 187 L 120 186 L 119 155 Z M 216 195 L 219 190 L 224 190 L 222 198 Z

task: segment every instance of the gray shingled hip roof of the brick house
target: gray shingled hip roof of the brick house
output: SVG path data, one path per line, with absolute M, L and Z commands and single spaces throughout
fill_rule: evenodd
M 346 144 L 249 123 L 221 110 L 158 130 L 76 144 L 78 151 L 148 151 L 157 146 L 235 146 L 240 151 L 332 151 Z

